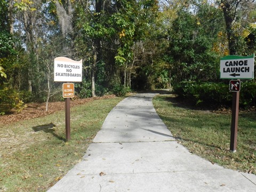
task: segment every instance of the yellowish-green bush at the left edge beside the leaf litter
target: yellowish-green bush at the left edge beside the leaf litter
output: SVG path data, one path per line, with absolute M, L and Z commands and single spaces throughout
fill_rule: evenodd
M 9 87 L 3 87 L 0 89 L 0 115 L 4 115 L 11 112 L 19 113 L 26 107 L 21 100 L 19 93 Z

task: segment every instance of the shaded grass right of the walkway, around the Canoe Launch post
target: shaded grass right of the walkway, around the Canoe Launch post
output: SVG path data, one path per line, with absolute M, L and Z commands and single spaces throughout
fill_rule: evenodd
M 229 151 L 231 114 L 180 105 L 174 95 L 159 95 L 154 107 L 163 122 L 191 153 L 233 170 L 256 174 L 256 116 L 238 117 L 237 152 Z

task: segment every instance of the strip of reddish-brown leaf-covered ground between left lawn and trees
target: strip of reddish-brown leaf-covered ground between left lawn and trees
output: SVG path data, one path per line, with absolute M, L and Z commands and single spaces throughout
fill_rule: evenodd
M 86 99 L 74 99 L 70 101 L 70 107 L 76 105 L 83 105 L 86 102 L 90 102 L 98 99 L 113 98 L 115 95 L 106 95 L 103 97 L 86 98 Z M 46 103 L 27 103 L 27 107 L 20 113 L 14 113 L 9 115 L 0 116 L 0 125 L 18 122 L 25 119 L 37 118 L 53 114 L 55 111 L 65 109 L 65 101 L 62 102 L 49 102 L 48 111 L 46 111 Z

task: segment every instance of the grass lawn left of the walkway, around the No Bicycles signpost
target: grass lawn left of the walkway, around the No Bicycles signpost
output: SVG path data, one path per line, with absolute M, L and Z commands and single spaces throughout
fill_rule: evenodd
M 122 99 L 71 108 L 68 142 L 65 111 L 0 127 L 0 191 L 46 191 L 53 186 L 81 161 L 107 114 Z

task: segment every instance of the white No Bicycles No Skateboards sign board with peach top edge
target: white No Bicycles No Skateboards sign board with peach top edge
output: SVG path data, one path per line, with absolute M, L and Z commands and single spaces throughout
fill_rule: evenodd
M 66 57 L 54 59 L 54 82 L 82 82 L 82 60 Z

